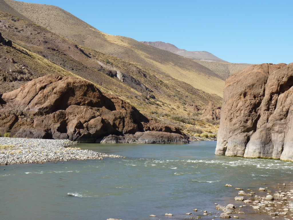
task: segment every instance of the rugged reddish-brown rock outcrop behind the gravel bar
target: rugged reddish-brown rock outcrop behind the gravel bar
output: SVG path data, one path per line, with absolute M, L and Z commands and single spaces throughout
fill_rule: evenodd
M 145 131 L 159 132 L 166 143 L 172 143 L 170 136 L 176 143 L 188 143 L 178 128 L 147 119 L 132 105 L 103 94 L 83 79 L 46 75 L 0 95 L 2 134 L 95 142 Z M 106 140 L 113 143 L 110 137 Z

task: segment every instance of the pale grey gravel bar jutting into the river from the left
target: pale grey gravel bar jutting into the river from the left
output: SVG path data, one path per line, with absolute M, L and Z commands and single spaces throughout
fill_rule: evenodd
M 0 165 L 47 161 L 125 158 L 92 150 L 75 148 L 69 140 L 0 137 Z

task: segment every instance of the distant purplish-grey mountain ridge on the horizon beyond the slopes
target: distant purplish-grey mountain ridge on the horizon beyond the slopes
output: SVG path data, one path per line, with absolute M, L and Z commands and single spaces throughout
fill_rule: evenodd
M 171 43 L 165 43 L 162 41 L 141 41 L 144 44 L 162 49 L 162 50 L 168 50 L 172 53 L 175 53 L 177 55 L 187 57 L 190 59 L 195 59 L 195 60 L 205 60 L 205 61 L 214 61 L 214 62 L 227 62 L 225 60 L 220 59 L 219 57 L 216 57 L 215 55 L 207 52 L 207 51 L 188 51 L 184 49 L 179 49 L 175 45 Z

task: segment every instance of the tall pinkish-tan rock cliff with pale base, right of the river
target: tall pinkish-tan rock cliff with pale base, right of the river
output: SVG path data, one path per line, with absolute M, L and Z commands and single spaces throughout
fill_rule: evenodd
M 293 63 L 253 65 L 227 79 L 215 153 L 293 162 Z

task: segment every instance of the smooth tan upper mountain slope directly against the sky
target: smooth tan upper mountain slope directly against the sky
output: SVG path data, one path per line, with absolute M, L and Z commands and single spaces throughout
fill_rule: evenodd
M 224 80 L 212 70 L 188 58 L 160 50 L 131 38 L 98 31 L 56 6 L 6 0 L 16 11 L 38 25 L 101 53 L 119 57 L 139 67 L 186 82 L 196 89 L 222 97 Z M 78 31 L 76 31 L 78 30 Z

